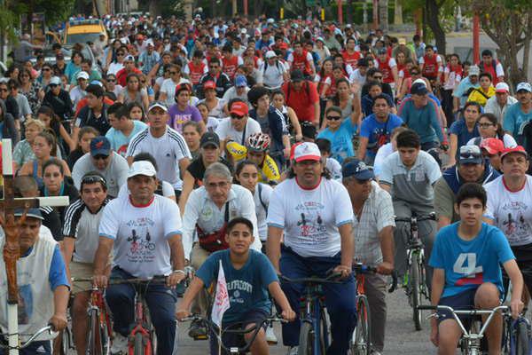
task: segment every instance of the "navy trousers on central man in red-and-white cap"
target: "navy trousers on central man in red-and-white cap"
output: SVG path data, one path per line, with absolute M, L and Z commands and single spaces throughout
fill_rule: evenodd
M 326 272 L 340 264 L 340 253 L 336 256 L 302 257 L 290 248 L 283 248 L 280 271 L 290 279 L 310 276 L 325 278 Z M 304 285 L 282 282 L 281 287 L 294 312 L 300 309 L 300 297 Z M 348 353 L 349 340 L 356 326 L 356 282 L 353 275 L 340 284 L 324 284 L 325 306 L 331 319 L 332 343 L 327 355 L 345 355 Z M 298 315 L 299 318 L 299 315 Z M 297 346 L 299 343 L 301 322 L 296 319 L 283 323 L 283 343 Z

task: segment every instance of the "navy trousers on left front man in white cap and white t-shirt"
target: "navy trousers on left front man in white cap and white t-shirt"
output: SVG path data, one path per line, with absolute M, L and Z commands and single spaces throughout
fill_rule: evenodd
M 112 278 L 132 279 L 129 272 L 114 267 Z M 143 288 L 144 290 L 144 288 Z M 106 301 L 113 313 L 113 329 L 121 335 L 129 335 L 135 321 L 135 288 L 129 284 L 110 285 L 106 289 Z M 157 334 L 157 355 L 171 355 L 176 351 L 176 302 L 171 288 L 153 284 L 145 291 L 145 301 L 150 310 L 153 327 Z

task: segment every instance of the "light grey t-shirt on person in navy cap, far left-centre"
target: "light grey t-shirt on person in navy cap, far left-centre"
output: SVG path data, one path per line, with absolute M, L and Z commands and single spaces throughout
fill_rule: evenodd
M 121 157 L 121 155 L 116 154 L 115 152 L 112 154 L 113 157 L 106 170 L 98 170 L 96 166 L 94 166 L 90 159 L 90 153 L 83 155 L 77 162 L 75 162 L 74 168 L 72 169 L 72 179 L 74 180 L 75 187 L 80 190 L 83 175 L 90 171 L 98 171 L 106 178 L 107 193 L 113 197 L 118 196 L 121 185 L 124 185 L 128 179 L 129 165 L 128 161 Z

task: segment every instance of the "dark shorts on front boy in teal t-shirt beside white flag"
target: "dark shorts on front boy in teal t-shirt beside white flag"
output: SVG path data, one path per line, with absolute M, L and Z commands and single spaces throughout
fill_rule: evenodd
M 264 312 L 263 310 L 251 310 L 245 314 L 242 315 L 239 322 L 235 323 L 224 323 L 223 328 L 230 328 L 230 329 L 243 329 L 248 324 L 255 324 L 257 326 L 260 326 L 262 324 L 262 328 L 266 330 L 266 327 L 268 327 L 268 323 L 263 323 L 264 319 L 268 318 L 268 312 Z M 254 330 L 249 332 L 249 334 L 253 334 Z M 216 335 L 210 335 L 210 353 L 211 355 L 218 355 L 218 342 Z M 235 334 L 235 333 L 225 333 L 222 335 L 222 342 L 223 345 L 226 348 L 230 348 L 231 346 L 238 346 L 239 348 L 242 348 L 246 346 L 246 339 L 244 338 L 244 335 L 241 334 Z M 223 355 L 229 355 L 227 351 L 222 350 Z

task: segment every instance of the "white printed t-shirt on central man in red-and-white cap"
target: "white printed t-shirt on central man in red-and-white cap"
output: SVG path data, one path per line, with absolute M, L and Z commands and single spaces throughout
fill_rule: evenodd
M 286 247 L 298 255 L 335 256 L 338 227 L 353 223 L 353 208 L 348 190 L 337 181 L 322 178 L 316 188 L 305 190 L 290 178 L 273 190 L 267 220 L 284 229 Z

